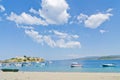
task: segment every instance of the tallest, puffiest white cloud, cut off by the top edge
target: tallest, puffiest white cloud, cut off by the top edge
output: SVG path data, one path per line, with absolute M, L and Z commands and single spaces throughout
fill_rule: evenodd
M 65 0 L 42 0 L 40 16 L 48 24 L 64 24 L 68 22 L 70 15 L 67 13 L 69 5 Z

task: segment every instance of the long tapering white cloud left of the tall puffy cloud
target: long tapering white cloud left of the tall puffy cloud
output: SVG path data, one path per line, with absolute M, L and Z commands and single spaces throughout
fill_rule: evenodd
M 25 25 L 47 25 L 46 22 L 37 18 L 36 16 L 31 16 L 23 12 L 20 15 L 17 15 L 11 12 L 10 16 L 7 17 L 8 20 L 16 22 L 16 24 L 25 24 Z

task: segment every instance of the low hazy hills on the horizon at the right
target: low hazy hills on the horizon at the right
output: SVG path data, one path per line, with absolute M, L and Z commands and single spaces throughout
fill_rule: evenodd
M 77 58 L 80 60 L 120 60 L 120 55 L 110 55 L 110 56 L 91 56 L 84 58 Z

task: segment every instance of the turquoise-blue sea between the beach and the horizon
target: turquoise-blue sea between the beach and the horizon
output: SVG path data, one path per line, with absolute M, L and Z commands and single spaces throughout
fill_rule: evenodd
M 82 67 L 71 67 L 73 62 L 77 62 Z M 115 64 L 115 67 L 103 67 L 103 64 Z M 2 68 L 13 68 L 0 67 Z M 26 72 L 115 72 L 120 73 L 120 60 L 50 60 L 42 63 L 26 63 L 24 66 L 14 67 L 19 71 Z

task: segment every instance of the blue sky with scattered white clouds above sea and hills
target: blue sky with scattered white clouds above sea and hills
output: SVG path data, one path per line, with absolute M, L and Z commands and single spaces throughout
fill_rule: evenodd
M 0 59 L 120 55 L 120 0 L 0 0 Z

